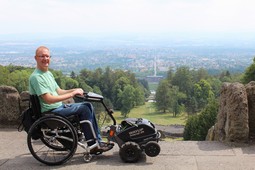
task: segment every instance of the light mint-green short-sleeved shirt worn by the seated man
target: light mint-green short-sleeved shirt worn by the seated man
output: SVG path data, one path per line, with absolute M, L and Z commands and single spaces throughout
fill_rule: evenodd
M 50 71 L 43 72 L 35 69 L 29 77 L 29 93 L 39 96 L 41 112 L 46 112 L 62 105 L 62 102 L 47 104 L 40 97 L 42 94 L 50 93 L 53 96 L 58 96 L 57 89 L 59 88 L 54 76 Z

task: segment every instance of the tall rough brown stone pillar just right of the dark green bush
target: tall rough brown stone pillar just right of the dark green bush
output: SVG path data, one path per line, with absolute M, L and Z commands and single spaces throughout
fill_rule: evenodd
M 249 138 L 248 100 L 241 83 L 224 83 L 215 124 L 215 140 L 246 142 Z

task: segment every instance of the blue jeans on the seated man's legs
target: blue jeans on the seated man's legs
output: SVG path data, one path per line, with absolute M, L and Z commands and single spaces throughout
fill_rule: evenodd
M 100 130 L 98 128 L 97 120 L 94 114 L 94 108 L 91 103 L 82 102 L 82 103 L 72 103 L 72 104 L 63 104 L 62 106 L 52 110 L 54 113 L 58 113 L 62 116 L 78 115 L 80 121 L 89 120 L 94 128 L 96 138 L 98 141 L 101 141 Z M 93 139 L 91 128 L 87 123 L 81 124 L 82 131 L 85 135 L 86 140 Z M 92 145 L 95 142 L 88 142 L 88 145 Z

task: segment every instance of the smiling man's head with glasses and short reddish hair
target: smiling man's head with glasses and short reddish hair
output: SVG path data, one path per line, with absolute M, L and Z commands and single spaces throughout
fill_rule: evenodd
M 45 46 L 40 46 L 35 51 L 37 68 L 41 71 L 48 71 L 50 64 L 50 50 Z

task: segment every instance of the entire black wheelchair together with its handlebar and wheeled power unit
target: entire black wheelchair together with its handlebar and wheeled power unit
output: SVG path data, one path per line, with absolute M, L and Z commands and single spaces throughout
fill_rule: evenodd
M 150 157 L 160 153 L 158 142 L 161 134 L 152 122 L 143 118 L 127 118 L 116 125 L 113 111 L 105 105 L 103 96 L 88 92 L 84 93 L 84 97 L 76 97 L 82 101 L 99 102 L 104 106 L 113 122 L 108 129 L 108 142 L 118 144 L 119 156 L 124 162 L 137 162 L 143 151 Z M 78 146 L 84 149 L 85 162 L 89 162 L 94 154 L 102 154 L 102 152 L 91 154 L 92 149 L 99 147 L 99 141 L 90 121 L 80 121 L 77 116 L 63 117 L 52 112 L 42 114 L 38 97 L 31 95 L 30 101 L 37 120 L 28 131 L 27 145 L 33 157 L 39 162 L 46 165 L 61 165 L 73 157 Z M 80 128 L 83 123 L 89 125 L 93 139 L 85 139 Z M 87 143 L 91 141 L 94 141 L 94 144 L 88 146 Z

